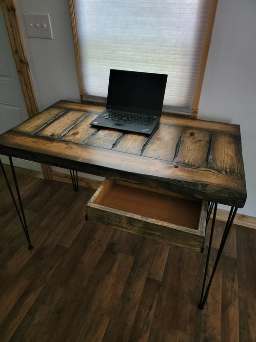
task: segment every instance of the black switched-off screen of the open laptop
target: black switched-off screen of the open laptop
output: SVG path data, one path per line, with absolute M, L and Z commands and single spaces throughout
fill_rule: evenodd
M 107 108 L 161 114 L 167 75 L 110 70 Z

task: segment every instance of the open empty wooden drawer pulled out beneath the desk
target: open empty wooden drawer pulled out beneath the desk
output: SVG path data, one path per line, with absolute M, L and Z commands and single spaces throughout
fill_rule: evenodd
M 87 203 L 86 218 L 199 251 L 206 213 L 207 201 L 105 179 Z

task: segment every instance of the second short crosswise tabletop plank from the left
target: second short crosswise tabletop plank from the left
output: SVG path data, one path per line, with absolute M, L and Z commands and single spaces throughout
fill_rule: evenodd
M 88 113 L 84 111 L 70 110 L 48 124 L 45 128 L 40 129 L 37 135 L 60 139 L 86 115 Z

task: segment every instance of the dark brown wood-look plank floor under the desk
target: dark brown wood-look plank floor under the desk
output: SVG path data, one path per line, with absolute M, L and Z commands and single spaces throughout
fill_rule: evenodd
M 17 176 L 34 249 L 1 173 L 0 341 L 256 341 L 256 230 L 233 226 L 200 311 L 206 251 L 85 222 L 93 190 Z

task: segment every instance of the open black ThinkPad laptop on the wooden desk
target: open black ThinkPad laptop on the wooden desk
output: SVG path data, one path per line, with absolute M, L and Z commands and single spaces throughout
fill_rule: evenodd
M 110 69 L 106 109 L 90 125 L 149 135 L 158 127 L 167 75 Z

